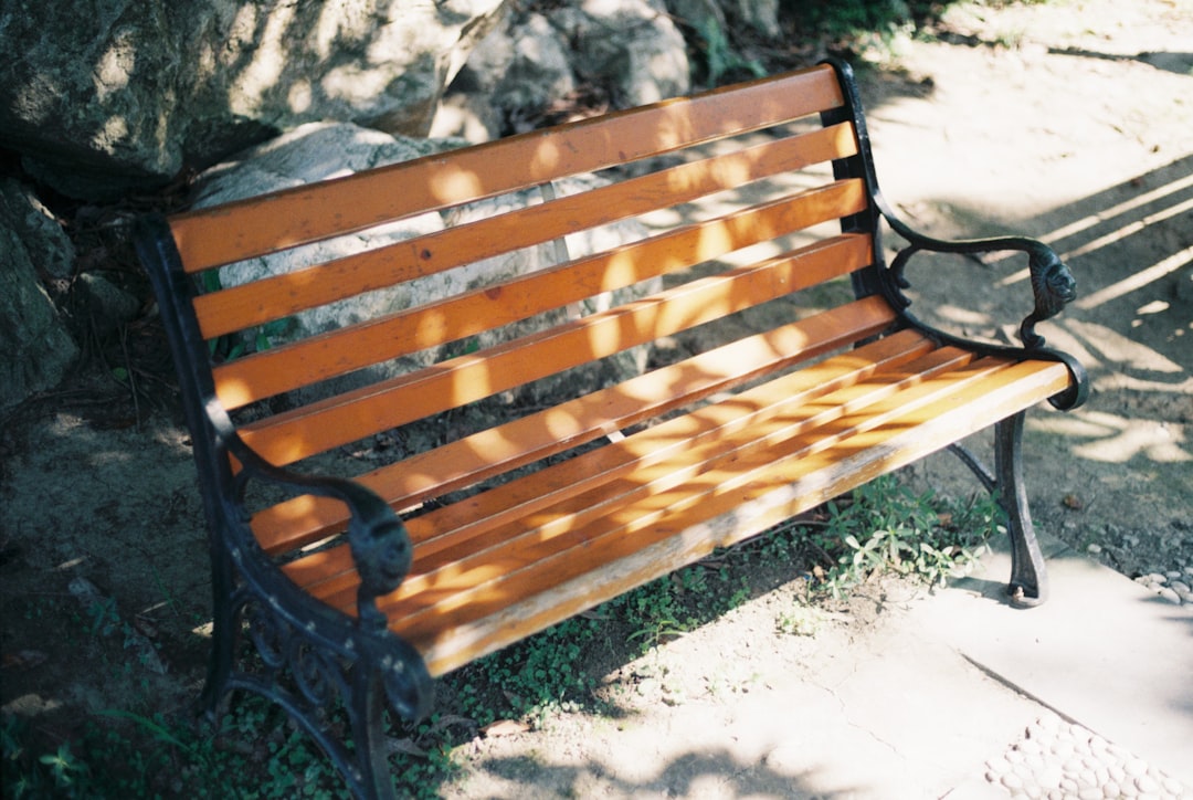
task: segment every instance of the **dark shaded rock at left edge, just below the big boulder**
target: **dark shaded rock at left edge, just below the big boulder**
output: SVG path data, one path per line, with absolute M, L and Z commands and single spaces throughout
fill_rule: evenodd
M 0 180 L 0 410 L 56 386 L 79 356 L 38 277 L 62 277 L 72 252 L 29 192 Z

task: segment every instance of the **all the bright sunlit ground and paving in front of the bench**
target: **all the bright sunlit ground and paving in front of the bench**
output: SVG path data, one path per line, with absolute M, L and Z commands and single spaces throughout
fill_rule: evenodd
M 1193 607 L 1045 553 L 1052 596 L 1030 610 L 1001 598 L 1003 553 L 810 636 L 777 636 L 759 598 L 626 665 L 632 713 L 488 741 L 447 795 L 1193 800 Z M 685 687 L 694 661 L 710 672 Z

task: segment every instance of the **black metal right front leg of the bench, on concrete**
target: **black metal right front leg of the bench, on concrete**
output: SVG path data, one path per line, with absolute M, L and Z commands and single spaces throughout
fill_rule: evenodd
M 1021 608 L 1039 605 L 1047 598 L 1044 554 L 1036 540 L 1036 528 L 1027 507 L 1024 485 L 1022 436 L 1026 412 L 1019 412 L 994 427 L 994 469 L 999 505 L 1007 512 L 1010 535 L 1010 603 Z

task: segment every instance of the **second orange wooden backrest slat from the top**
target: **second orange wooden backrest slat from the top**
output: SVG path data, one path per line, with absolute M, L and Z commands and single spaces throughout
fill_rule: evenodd
M 317 266 L 200 295 L 194 300 L 199 330 L 204 338 L 212 339 L 365 291 L 855 153 L 852 125 L 840 124 L 682 164 Z

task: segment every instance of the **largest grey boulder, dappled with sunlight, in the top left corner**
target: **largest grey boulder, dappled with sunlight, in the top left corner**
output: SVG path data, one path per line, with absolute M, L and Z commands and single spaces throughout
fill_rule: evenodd
M 424 135 L 503 0 L 5 0 L 0 144 L 111 197 L 280 130 Z

